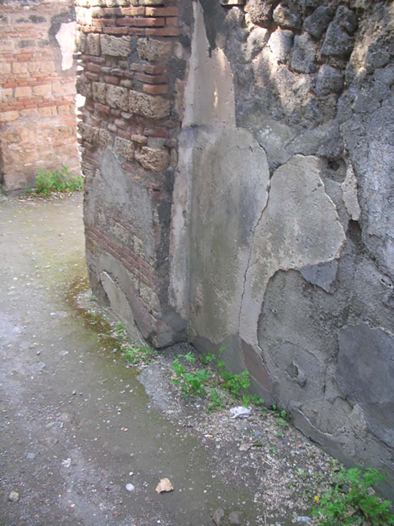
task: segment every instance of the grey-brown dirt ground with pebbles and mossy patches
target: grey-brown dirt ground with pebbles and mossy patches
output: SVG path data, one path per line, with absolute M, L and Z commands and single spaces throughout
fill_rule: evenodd
M 0 200 L 0 262 L 0 525 L 314 523 L 336 467 L 316 444 L 182 399 L 184 345 L 126 367 L 87 291 L 82 196 Z

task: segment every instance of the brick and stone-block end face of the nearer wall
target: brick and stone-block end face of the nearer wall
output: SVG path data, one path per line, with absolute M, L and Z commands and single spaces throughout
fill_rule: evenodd
M 76 0 L 87 260 L 95 294 L 161 347 L 185 336 L 168 251 L 186 63 L 175 2 L 136 3 Z

